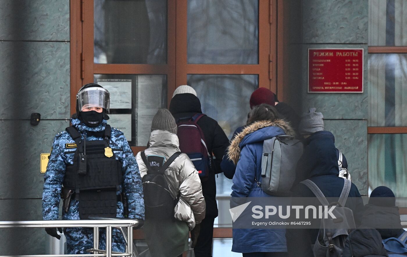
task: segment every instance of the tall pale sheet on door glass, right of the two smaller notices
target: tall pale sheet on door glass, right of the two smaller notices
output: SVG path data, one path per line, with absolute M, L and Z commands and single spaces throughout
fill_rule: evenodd
M 139 75 L 137 82 L 137 145 L 147 145 L 151 122 L 155 113 L 162 108 L 162 76 Z

